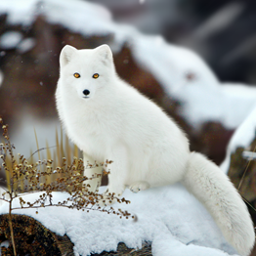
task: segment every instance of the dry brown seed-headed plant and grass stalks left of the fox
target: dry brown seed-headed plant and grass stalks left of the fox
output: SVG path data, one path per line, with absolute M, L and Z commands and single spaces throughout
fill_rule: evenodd
M 3 129 L 4 143 L 0 144 L 0 158 L 2 159 L 2 167 L 6 173 L 7 179 L 7 189 L 3 188 L 2 196 L 0 200 L 4 200 L 9 203 L 9 225 L 12 237 L 12 245 L 14 249 L 14 255 L 17 255 L 15 247 L 15 234 L 13 231 L 12 223 L 12 211 L 15 209 L 25 209 L 39 207 L 49 207 L 49 206 L 62 206 L 70 209 L 77 209 L 82 211 L 97 210 L 102 212 L 107 212 L 107 214 L 116 214 L 120 218 L 129 217 L 135 218 L 127 211 L 122 211 L 121 209 L 114 210 L 112 207 L 101 207 L 100 202 L 105 203 L 105 201 L 113 202 L 117 201 L 119 203 L 125 202 L 129 203 L 125 198 L 118 198 L 114 193 L 101 194 L 96 192 L 90 192 L 90 185 L 86 184 L 86 181 L 99 178 L 101 174 L 98 174 L 92 178 L 88 178 L 83 175 L 84 173 L 84 163 L 83 160 L 73 156 L 71 160 L 70 157 L 70 147 L 66 142 L 65 149 L 67 150 L 68 157 L 63 157 L 64 155 L 64 143 L 61 139 L 61 144 L 59 144 L 58 134 L 57 134 L 57 152 L 58 159 L 51 159 L 51 152 L 47 143 L 47 160 L 40 160 L 40 149 L 37 141 L 37 150 L 39 155 L 39 160 L 37 162 L 33 161 L 34 152 L 30 158 L 27 160 L 23 155 L 18 154 L 18 157 L 14 155 L 14 145 L 11 144 L 8 125 L 3 124 L 3 120 L 0 117 L 0 124 Z M 62 137 L 63 138 L 63 133 Z M 74 152 L 78 154 L 77 148 L 74 148 Z M 61 162 L 62 157 L 62 162 Z M 60 167 L 55 165 L 58 161 Z M 103 163 L 87 163 L 86 168 L 95 168 L 103 166 L 107 169 L 108 164 L 111 161 L 106 161 Z M 105 174 L 108 174 L 105 171 Z M 42 192 L 37 199 L 34 201 L 25 201 L 23 199 L 24 195 L 33 192 Z M 69 196 L 64 201 L 54 202 L 53 192 L 68 192 Z M 13 207 L 13 201 L 15 198 L 19 198 L 20 206 Z

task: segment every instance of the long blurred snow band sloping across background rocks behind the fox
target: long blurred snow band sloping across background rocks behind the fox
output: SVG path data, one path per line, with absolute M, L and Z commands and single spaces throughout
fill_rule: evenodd
M 127 42 L 137 62 L 149 69 L 167 94 L 183 103 L 181 114 L 194 127 L 210 120 L 234 129 L 255 103 L 256 88 L 220 83 L 192 51 L 168 44 L 161 36 L 144 35 L 132 26 L 115 23 L 100 5 L 81 0 L 13 0 L 10 5 L 9 0 L 2 0 L 3 13 L 8 13 L 10 23 L 28 25 L 36 14 L 43 14 L 47 21 L 61 23 L 85 36 L 111 33 L 113 51 Z M 188 79 L 189 74 L 192 79 Z

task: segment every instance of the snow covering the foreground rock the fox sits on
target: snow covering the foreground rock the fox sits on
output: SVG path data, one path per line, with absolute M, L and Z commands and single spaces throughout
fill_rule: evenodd
M 105 188 L 101 188 L 104 192 Z M 54 192 L 55 200 L 63 201 L 65 193 Z M 39 193 L 22 196 L 25 201 L 38 198 Z M 225 241 L 206 209 L 180 184 L 123 196 L 131 203 L 113 207 L 136 214 L 138 221 L 90 211 L 82 212 L 64 207 L 20 209 L 14 213 L 29 215 L 51 231 L 66 234 L 74 243 L 75 255 L 86 256 L 103 250 L 116 250 L 118 242 L 141 248 L 151 241 L 154 256 L 227 256 L 235 250 Z M 17 200 L 15 205 L 20 205 Z M 5 202 L 0 213 L 8 212 Z

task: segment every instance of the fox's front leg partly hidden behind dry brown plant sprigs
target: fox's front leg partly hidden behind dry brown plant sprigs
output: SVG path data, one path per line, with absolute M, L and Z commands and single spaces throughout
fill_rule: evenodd
M 88 179 L 92 178 L 91 180 L 87 180 L 84 182 L 86 185 L 90 185 L 89 191 L 95 192 L 97 188 L 101 186 L 102 183 L 102 176 L 97 178 L 98 174 L 103 173 L 103 167 L 89 167 L 89 164 L 94 164 L 95 160 L 89 156 L 87 153 L 83 152 L 83 161 L 84 161 L 84 176 L 86 176 Z

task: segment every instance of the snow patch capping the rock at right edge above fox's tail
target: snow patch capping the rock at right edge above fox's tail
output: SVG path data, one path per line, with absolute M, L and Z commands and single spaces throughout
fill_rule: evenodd
M 248 116 L 242 124 L 235 130 L 227 149 L 225 160 L 221 164 L 221 169 L 228 173 L 231 163 L 231 154 L 235 152 L 238 147 L 247 148 L 256 137 L 256 104 L 249 112 Z

